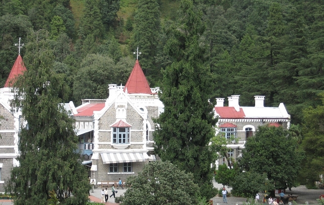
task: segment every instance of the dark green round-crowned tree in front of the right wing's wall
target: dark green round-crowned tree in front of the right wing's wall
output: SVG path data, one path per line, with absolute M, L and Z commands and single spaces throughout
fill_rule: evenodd
M 276 189 L 285 189 L 297 184 L 303 151 L 298 150 L 297 139 L 281 126 L 258 127 L 255 136 L 249 138 L 242 150 L 239 166 L 242 170 L 266 173 Z

